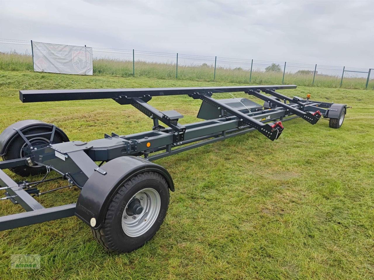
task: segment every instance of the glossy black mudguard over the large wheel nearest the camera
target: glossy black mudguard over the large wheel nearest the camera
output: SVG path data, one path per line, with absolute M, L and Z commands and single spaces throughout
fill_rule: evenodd
M 174 192 L 174 183 L 169 172 L 160 165 L 136 156 L 122 156 L 112 159 L 101 169 L 107 172 L 103 175 L 95 171 L 83 186 L 78 197 L 75 215 L 94 229 L 101 227 L 105 213 L 117 190 L 131 177 L 145 171 L 158 172 L 165 177 L 169 189 Z M 91 225 L 91 219 L 96 223 Z

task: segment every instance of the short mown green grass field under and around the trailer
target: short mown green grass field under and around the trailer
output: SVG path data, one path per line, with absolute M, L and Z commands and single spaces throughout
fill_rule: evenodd
M 0 130 L 40 119 L 70 140 L 88 141 L 151 127 L 145 115 L 113 100 L 22 104 L 20 89 L 213 85 L 233 84 L 0 71 Z M 338 130 L 323 119 L 316 125 L 294 119 L 274 142 L 253 132 L 156 161 L 176 190 L 156 236 L 132 253 L 105 252 L 76 217 L 2 231 L 1 279 L 373 279 L 372 91 L 298 87 L 282 93 L 310 93 L 353 108 Z M 150 104 L 182 113 L 181 123 L 197 121 L 200 106 L 187 96 L 155 97 Z M 57 186 L 64 182 L 41 190 Z M 63 189 L 37 200 L 57 206 L 78 194 Z M 21 211 L 0 202 L 0 215 Z M 12 254 L 40 254 L 41 268 L 10 269 Z

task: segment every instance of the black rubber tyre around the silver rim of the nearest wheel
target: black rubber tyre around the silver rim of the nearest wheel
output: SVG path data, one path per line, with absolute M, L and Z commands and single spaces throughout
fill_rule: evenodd
M 132 197 L 142 189 L 153 188 L 161 198 L 159 215 L 144 234 L 138 237 L 129 237 L 122 229 L 122 214 Z M 118 190 L 105 214 L 101 228 L 91 228 L 93 237 L 105 249 L 115 253 L 132 252 L 152 239 L 163 223 L 169 207 L 169 187 L 165 178 L 157 172 L 143 172 L 126 181 Z

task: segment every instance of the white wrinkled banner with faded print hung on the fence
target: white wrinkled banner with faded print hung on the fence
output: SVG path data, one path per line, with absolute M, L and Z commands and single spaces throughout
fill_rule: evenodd
M 92 48 L 32 43 L 34 71 L 92 75 Z

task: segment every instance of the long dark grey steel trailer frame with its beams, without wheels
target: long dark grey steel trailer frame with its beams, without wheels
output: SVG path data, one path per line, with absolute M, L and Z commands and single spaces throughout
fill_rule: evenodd
M 86 214 L 77 214 L 77 203 L 44 208 L 31 194 L 39 193 L 27 181 L 15 182 L 1 169 L 17 166 L 42 165 L 48 171 L 54 170 L 67 179 L 71 185 L 83 188 L 86 181 L 97 172 L 101 176 L 107 170 L 95 161 L 108 162 L 122 156 L 144 156 L 148 162 L 186 150 L 194 149 L 216 141 L 257 130 L 270 140 L 276 140 L 283 131 L 282 121 L 302 118 L 315 124 L 321 116 L 338 118 L 341 108 L 346 105 L 311 101 L 300 97 L 287 97 L 276 90 L 293 89 L 296 85 L 261 85 L 237 87 L 189 87 L 189 88 L 131 88 L 131 89 L 90 89 L 90 90 L 21 90 L 22 102 L 45 102 L 59 100 L 114 99 L 121 105 L 132 105 L 153 120 L 150 131 L 131 135 L 105 134 L 104 139 L 89 142 L 70 141 L 53 143 L 55 126 L 52 126 L 49 144 L 25 148 L 27 156 L 0 162 L 0 189 L 6 191 L 4 199 L 21 205 L 27 212 L 0 217 L 0 230 L 42 223 L 77 215 L 89 224 L 92 214 L 82 206 Z M 245 92 L 264 100 L 264 107 L 254 102 L 246 106 L 248 99 L 214 99 L 214 93 Z M 265 95 L 261 93 L 268 94 Z M 202 100 L 199 115 L 204 121 L 182 125 L 183 116 L 176 111 L 159 111 L 147 102 L 155 96 L 188 95 Z M 236 105 L 234 104 L 236 102 Z M 288 103 L 287 103 L 288 102 Z M 243 105 L 243 106 L 242 106 Z M 207 117 L 208 116 L 208 117 Z M 163 127 L 160 122 L 167 125 Z M 14 128 L 28 142 L 30 135 Z M 18 134 L 17 134 L 18 133 Z M 1 136 L 0 136 L 1 138 Z M 0 139 L 1 140 L 1 139 Z M 0 152 L 6 150 L 6 141 L 0 141 Z M 30 144 L 30 143 L 29 143 Z M 98 176 L 96 174 L 96 176 Z M 43 180 L 42 180 L 43 181 Z M 171 183 L 170 189 L 174 191 Z M 89 190 L 88 190 L 89 191 Z M 86 191 L 87 192 L 87 191 Z M 82 192 L 81 192 L 82 194 Z M 87 211 L 86 211 L 87 210 Z M 82 211 L 81 211 L 82 213 Z M 91 225 L 92 226 L 92 225 Z M 100 221 L 96 228 L 100 226 Z

